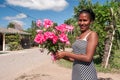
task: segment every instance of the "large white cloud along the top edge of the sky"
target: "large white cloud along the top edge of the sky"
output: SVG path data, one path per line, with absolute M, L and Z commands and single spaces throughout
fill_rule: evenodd
M 7 4 L 34 10 L 62 11 L 68 5 L 66 0 L 6 0 Z

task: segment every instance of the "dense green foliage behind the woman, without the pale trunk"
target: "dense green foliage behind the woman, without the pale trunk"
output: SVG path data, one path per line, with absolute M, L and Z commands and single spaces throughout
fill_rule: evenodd
M 77 25 L 77 19 L 79 15 L 79 11 L 84 8 L 91 8 L 95 14 L 96 19 L 91 25 L 91 29 L 96 31 L 99 36 L 99 44 L 96 50 L 96 55 L 99 55 L 99 60 L 102 60 L 103 54 L 104 54 L 104 47 L 105 47 L 105 40 L 107 39 L 107 31 L 108 27 L 110 25 L 110 22 L 114 21 L 115 25 L 115 37 L 112 47 L 112 53 L 115 53 L 115 49 L 120 48 L 120 2 L 113 2 L 112 0 L 106 1 L 104 4 L 100 3 L 92 3 L 91 0 L 80 0 L 79 5 L 74 7 L 74 17 L 70 18 L 65 21 L 67 24 L 72 24 L 75 26 L 74 31 L 72 35 L 69 35 L 71 42 L 74 42 L 75 38 L 79 36 L 80 29 Z M 114 16 L 111 17 L 110 8 L 113 8 L 114 10 Z M 110 29 L 112 30 L 112 29 Z M 72 39 L 73 38 L 73 39 Z M 114 56 L 114 55 L 111 55 Z

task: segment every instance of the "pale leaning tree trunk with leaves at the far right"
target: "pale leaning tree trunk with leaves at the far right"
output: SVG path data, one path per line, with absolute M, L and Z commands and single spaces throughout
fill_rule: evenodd
M 103 63 L 102 65 L 107 68 L 108 64 L 109 64 L 109 58 L 111 56 L 112 50 L 118 49 L 120 44 L 118 41 L 118 37 L 120 34 L 120 23 L 118 21 L 120 21 L 120 10 L 119 10 L 119 4 L 120 3 L 116 3 L 116 2 L 111 2 L 110 3 L 112 6 L 110 7 L 110 16 L 111 19 L 109 21 L 109 26 L 107 27 L 107 39 L 105 41 L 105 49 L 104 49 L 104 55 L 103 55 Z M 116 35 L 116 36 L 115 36 Z M 119 37 L 120 39 L 120 37 Z M 117 43 L 114 43 L 114 41 Z M 115 44 L 115 45 L 113 45 Z M 117 47 L 118 48 L 117 48 Z M 115 48 L 116 47 L 116 48 Z

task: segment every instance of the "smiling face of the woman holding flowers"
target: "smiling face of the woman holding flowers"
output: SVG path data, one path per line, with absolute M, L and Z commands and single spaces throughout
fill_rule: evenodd
M 81 13 L 78 19 L 78 25 L 80 26 L 81 31 L 84 32 L 88 30 L 90 24 L 91 24 L 90 15 L 88 13 Z

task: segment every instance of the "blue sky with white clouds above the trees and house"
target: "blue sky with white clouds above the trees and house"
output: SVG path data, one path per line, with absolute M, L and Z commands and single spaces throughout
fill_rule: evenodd
M 92 0 L 103 3 L 105 0 Z M 58 25 L 74 15 L 79 0 L 0 0 L 0 27 L 16 22 L 22 28 L 31 27 L 38 19 L 50 19 Z

